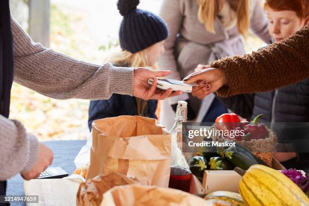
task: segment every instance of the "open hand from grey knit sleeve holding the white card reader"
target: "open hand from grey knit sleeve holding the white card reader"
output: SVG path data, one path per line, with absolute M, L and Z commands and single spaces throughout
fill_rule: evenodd
M 134 69 L 133 72 L 133 96 L 148 99 L 165 99 L 167 97 L 181 94 L 181 91 L 173 91 L 171 88 L 162 90 L 157 88 L 158 78 L 165 77 L 170 74 L 170 71 L 155 71 L 142 67 Z M 148 79 L 153 78 L 152 85 L 148 84 Z

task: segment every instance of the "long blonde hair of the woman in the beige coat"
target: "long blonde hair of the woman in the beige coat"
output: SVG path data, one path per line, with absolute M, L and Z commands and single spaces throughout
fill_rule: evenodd
M 211 33 L 215 33 L 214 21 L 223 5 L 223 1 L 227 0 L 197 0 L 198 20 L 203 23 L 205 29 Z M 229 4 L 236 12 L 238 32 L 245 37 L 250 21 L 249 0 L 238 0 Z

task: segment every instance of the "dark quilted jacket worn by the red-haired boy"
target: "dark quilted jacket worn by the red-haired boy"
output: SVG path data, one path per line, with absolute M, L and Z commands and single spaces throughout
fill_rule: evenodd
M 277 77 L 278 78 L 278 77 Z M 273 91 L 267 91 L 255 94 L 239 94 L 227 98 L 218 97 L 218 99 L 234 113 L 240 115 L 243 118 L 252 120 L 259 114 L 265 116 L 261 118 L 260 122 L 309 122 L 309 79 L 281 87 Z M 307 128 L 305 128 L 307 129 Z M 279 141 L 287 141 L 286 138 L 298 138 L 295 132 L 298 129 L 290 128 L 289 131 L 284 130 L 280 132 Z M 276 131 L 276 129 L 275 129 Z M 287 135 L 289 133 L 289 135 Z M 278 134 L 278 133 L 277 133 Z M 307 135 L 305 137 L 308 138 Z M 303 148 L 303 142 L 309 148 L 309 139 L 295 143 L 295 151 L 300 151 Z M 308 150 L 308 149 L 307 149 Z M 302 150 L 303 151 L 303 150 Z M 308 152 L 308 151 L 306 151 Z M 282 163 L 285 167 L 296 167 L 296 169 L 309 169 L 309 153 L 299 152 L 295 160 L 290 160 L 287 163 Z

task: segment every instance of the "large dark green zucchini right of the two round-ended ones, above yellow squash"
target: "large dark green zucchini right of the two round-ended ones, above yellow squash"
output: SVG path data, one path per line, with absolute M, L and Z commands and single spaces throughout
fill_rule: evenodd
M 221 156 L 225 157 L 234 167 L 239 167 L 243 170 L 258 164 L 249 152 L 236 146 L 225 149 Z

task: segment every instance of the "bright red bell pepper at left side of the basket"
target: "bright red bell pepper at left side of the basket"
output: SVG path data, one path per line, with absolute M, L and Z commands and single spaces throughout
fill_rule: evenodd
M 234 113 L 220 115 L 216 119 L 216 126 L 219 130 L 232 130 L 239 127 L 239 117 Z

